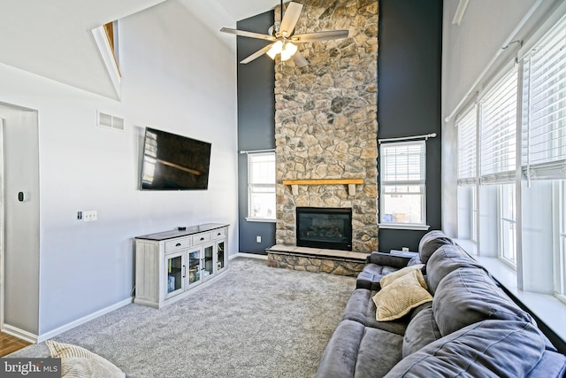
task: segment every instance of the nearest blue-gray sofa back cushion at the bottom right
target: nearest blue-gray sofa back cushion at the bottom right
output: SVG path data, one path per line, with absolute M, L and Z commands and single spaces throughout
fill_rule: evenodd
M 426 345 L 386 377 L 522 377 L 539 364 L 544 345 L 530 322 L 485 320 Z

